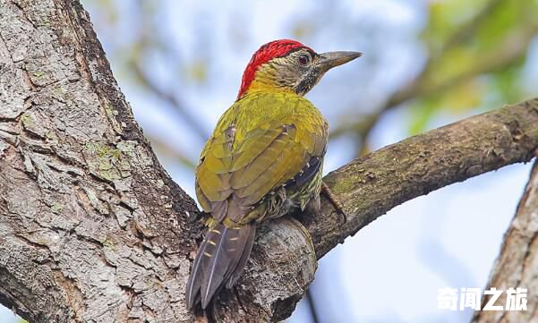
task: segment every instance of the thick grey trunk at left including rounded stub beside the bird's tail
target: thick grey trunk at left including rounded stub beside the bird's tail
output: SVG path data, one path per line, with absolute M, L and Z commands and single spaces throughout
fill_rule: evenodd
M 0 302 L 31 322 L 191 322 L 198 215 L 81 4 L 0 0 Z M 312 244 L 289 227 L 260 237 L 234 320 L 286 316 L 312 281 Z

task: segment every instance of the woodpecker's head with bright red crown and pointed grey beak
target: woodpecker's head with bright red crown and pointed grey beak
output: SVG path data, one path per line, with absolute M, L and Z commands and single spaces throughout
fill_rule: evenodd
M 243 72 L 237 98 L 256 90 L 288 90 L 303 96 L 325 72 L 361 55 L 360 52 L 317 54 L 295 40 L 271 41 L 252 55 Z

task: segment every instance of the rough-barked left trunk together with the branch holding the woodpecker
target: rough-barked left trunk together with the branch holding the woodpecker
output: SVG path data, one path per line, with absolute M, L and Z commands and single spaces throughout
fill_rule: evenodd
M 418 195 L 528 161 L 537 106 L 478 115 L 329 174 L 346 225 L 327 201 L 303 225 L 265 225 L 209 317 L 285 319 L 316 258 L 349 234 Z M 0 302 L 31 322 L 190 322 L 199 215 L 133 120 L 81 5 L 0 0 Z

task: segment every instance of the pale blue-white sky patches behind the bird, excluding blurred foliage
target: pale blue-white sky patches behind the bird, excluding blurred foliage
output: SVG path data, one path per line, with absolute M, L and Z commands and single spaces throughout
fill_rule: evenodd
M 219 115 L 234 101 L 244 65 L 252 52 L 269 40 L 293 37 L 290 35 L 293 21 L 304 19 L 308 26 L 307 18 L 315 15 L 321 27 L 304 36 L 309 40 L 306 45 L 320 52 L 360 50 L 364 53 L 364 57 L 352 64 L 329 72 L 307 95 L 328 117 L 329 124 L 336 124 L 343 111 L 349 115 L 367 111 L 371 107 L 369 102 L 373 105 L 385 98 L 423 63 L 420 46 L 413 35 L 426 21 L 425 3 L 348 0 L 337 8 L 328 3 L 242 0 L 209 1 L 201 5 L 195 1 L 161 1 L 155 14 L 164 26 L 162 34 L 175 39 L 168 45 L 183 62 L 195 62 L 199 57 L 209 61 L 208 80 L 202 84 L 184 80 L 180 72 L 175 75 L 169 71 L 170 58 L 158 54 L 150 55 L 144 68 L 152 80 L 177 94 L 200 117 L 203 131 L 209 133 Z M 132 41 L 132 33 L 140 32 L 141 28 L 132 5 L 115 3 L 125 14 L 118 19 L 115 29 L 111 29 L 107 27 L 102 7 L 89 1 L 85 4 L 141 127 L 151 136 L 197 158 L 203 140 L 192 133 L 190 125 L 180 119 L 172 106 L 148 95 L 132 82 L 129 71 L 121 63 L 129 54 L 120 55 L 122 48 Z M 278 11 L 274 12 L 274 8 Z M 131 14 L 134 18 L 130 18 Z M 353 21 L 362 21 L 361 26 L 365 27 L 352 38 L 350 30 L 356 32 Z M 536 61 L 538 55 L 534 56 Z M 357 98 L 367 98 L 361 101 L 364 106 L 353 106 Z M 428 128 L 466 115 L 438 115 Z M 383 116 L 373 130 L 371 149 L 405 139 L 406 118 L 404 106 Z M 326 172 L 354 157 L 349 149 L 352 144 L 349 139 L 331 141 L 324 166 Z M 159 156 L 159 159 L 174 180 L 194 196 L 192 171 L 169 157 Z M 320 259 L 312 284 L 320 322 L 468 321 L 472 316 L 470 310 L 438 310 L 438 291 L 445 287 L 486 285 L 529 171 L 530 165 L 507 166 L 450 185 L 390 210 L 347 238 Z M 0 322 L 12 319 L 10 310 L 0 308 Z M 308 306 L 301 302 L 288 322 L 312 322 Z

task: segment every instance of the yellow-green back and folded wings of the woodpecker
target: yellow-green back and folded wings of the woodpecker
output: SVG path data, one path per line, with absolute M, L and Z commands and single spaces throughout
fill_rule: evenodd
M 240 221 L 311 157 L 322 157 L 327 145 L 327 123 L 305 98 L 248 98 L 223 115 L 196 170 L 201 207 L 218 221 Z

